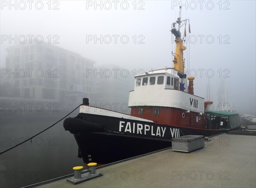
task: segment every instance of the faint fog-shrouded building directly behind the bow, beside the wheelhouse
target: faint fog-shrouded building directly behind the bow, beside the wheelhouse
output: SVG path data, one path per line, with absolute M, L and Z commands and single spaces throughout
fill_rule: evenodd
M 129 91 L 134 89 L 133 73 L 115 65 L 98 66 L 94 73 L 96 97 L 92 105 L 129 114 Z

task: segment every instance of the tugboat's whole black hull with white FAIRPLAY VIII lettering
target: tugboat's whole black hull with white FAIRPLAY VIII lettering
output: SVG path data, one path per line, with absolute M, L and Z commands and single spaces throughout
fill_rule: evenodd
M 121 131 L 120 122 L 124 122 Z M 141 134 L 136 134 L 136 130 L 125 132 L 126 122 L 130 122 L 131 125 L 150 125 L 152 130 L 142 130 L 139 132 Z M 213 136 L 224 132 L 221 129 L 184 128 L 82 113 L 76 118 L 67 118 L 64 121 L 64 128 L 74 134 L 84 163 L 98 164 L 108 164 L 171 147 L 172 137 L 188 134 Z M 158 129 L 160 135 L 157 135 Z

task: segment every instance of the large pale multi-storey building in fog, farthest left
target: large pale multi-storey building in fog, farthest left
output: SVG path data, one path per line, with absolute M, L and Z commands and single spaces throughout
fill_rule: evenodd
M 81 104 L 83 97 L 94 100 L 93 60 L 48 43 L 27 43 L 6 48 L 5 96 L 37 101 Z

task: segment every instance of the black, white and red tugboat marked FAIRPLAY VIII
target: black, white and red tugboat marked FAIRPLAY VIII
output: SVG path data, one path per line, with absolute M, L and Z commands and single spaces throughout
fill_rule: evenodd
M 74 134 L 79 147 L 78 157 L 84 163 L 108 164 L 172 146 L 172 138 L 188 134 L 212 136 L 229 130 L 208 126 L 212 118 L 206 111 L 212 101 L 194 95 L 195 77 L 184 73 L 184 34 L 180 24 L 172 24 L 176 51 L 174 68 L 151 70 L 135 76 L 128 106 L 131 114 L 105 110 L 89 105 L 84 98 L 79 114 L 64 120 L 65 130 Z M 176 28 L 177 26 L 177 28 Z M 189 85 L 188 85 L 189 80 Z

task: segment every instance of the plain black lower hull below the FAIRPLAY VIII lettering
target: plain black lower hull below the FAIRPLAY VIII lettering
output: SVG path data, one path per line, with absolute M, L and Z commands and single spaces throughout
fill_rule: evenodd
M 108 164 L 172 146 L 170 140 L 110 133 L 81 133 L 74 136 L 84 163 Z

